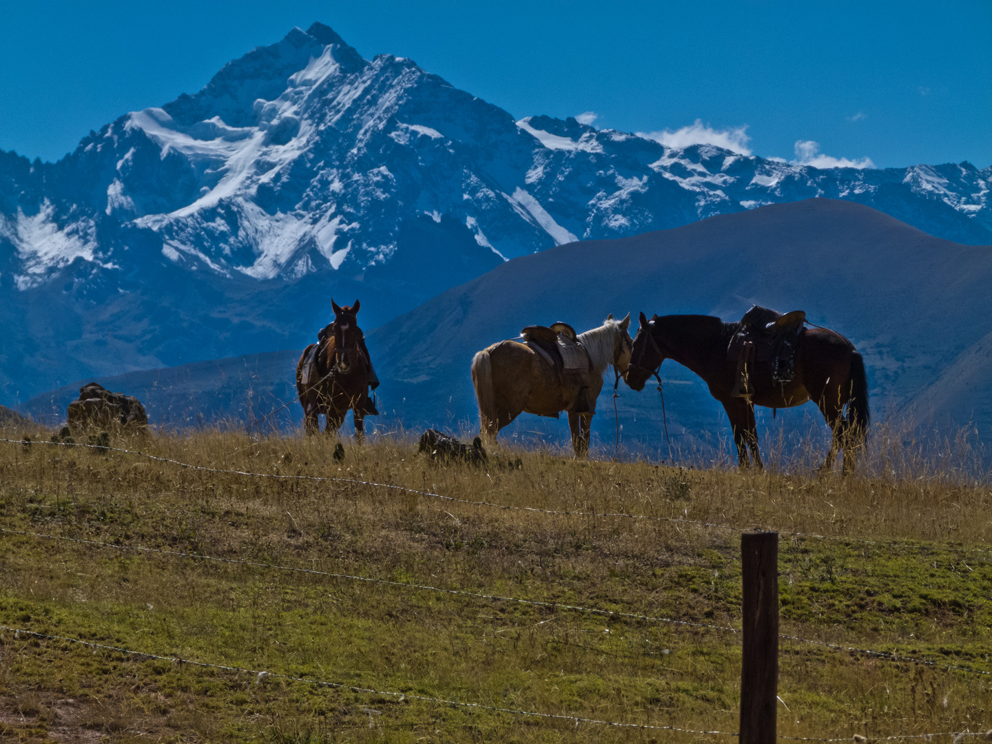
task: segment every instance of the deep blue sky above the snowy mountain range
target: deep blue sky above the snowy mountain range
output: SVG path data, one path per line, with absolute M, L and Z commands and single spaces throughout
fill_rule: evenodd
M 819 165 L 992 165 L 989 0 L 2 0 L 0 11 L 0 149 L 43 160 L 320 21 L 366 58 L 412 58 L 518 118 L 590 112 L 598 127 Z

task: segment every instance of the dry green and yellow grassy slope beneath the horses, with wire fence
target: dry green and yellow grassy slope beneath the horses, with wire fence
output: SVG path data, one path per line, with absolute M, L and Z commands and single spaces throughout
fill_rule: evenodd
M 917 660 L 783 639 L 780 734 L 992 728 L 992 491 L 949 469 L 815 479 L 554 451 L 473 468 L 390 440 L 337 461 L 322 436 L 114 445 L 345 480 L 0 442 L 2 740 L 728 741 L 574 719 L 736 732 L 726 628 L 753 528 L 782 533 L 784 635 Z

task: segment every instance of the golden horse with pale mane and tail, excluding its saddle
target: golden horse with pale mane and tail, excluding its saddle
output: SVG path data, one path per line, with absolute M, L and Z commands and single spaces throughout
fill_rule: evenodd
M 578 342 L 589 356 L 589 410 L 575 413 L 570 409 L 579 393 L 577 385 L 566 385 L 558 370 L 541 354 L 519 341 L 500 341 L 483 349 L 472 359 L 472 383 L 479 402 L 482 438 L 496 443 L 496 435 L 522 413 L 558 418 L 568 411 L 568 427 L 576 457 L 589 451 L 589 426 L 595 414 L 595 400 L 603 387 L 603 372 L 610 364 L 623 373 L 630 361 L 633 346 L 627 326 L 630 313 L 623 320 L 611 314 L 598 328 L 578 334 Z

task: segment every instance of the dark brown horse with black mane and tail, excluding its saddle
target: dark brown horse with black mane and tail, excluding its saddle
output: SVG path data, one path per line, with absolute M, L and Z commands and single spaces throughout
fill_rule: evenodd
M 727 359 L 727 345 L 740 326 L 740 322 L 726 323 L 711 315 L 655 315 L 649 320 L 642 312 L 624 380 L 633 390 L 643 390 L 649 377 L 658 376 L 666 359 L 688 367 L 705 381 L 713 398 L 723 404 L 733 428 L 740 466 L 749 465 L 750 447 L 759 469 L 762 464 L 754 407 L 792 408 L 814 401 L 833 432 L 821 470 L 829 470 L 837 452 L 843 449 L 843 472 L 849 472 L 868 432 L 868 383 L 861 354 L 835 331 L 806 328 L 796 351 L 793 381 L 775 382 L 769 365 L 755 364 L 750 375 L 754 393 L 748 401 L 731 396 L 737 362 Z

